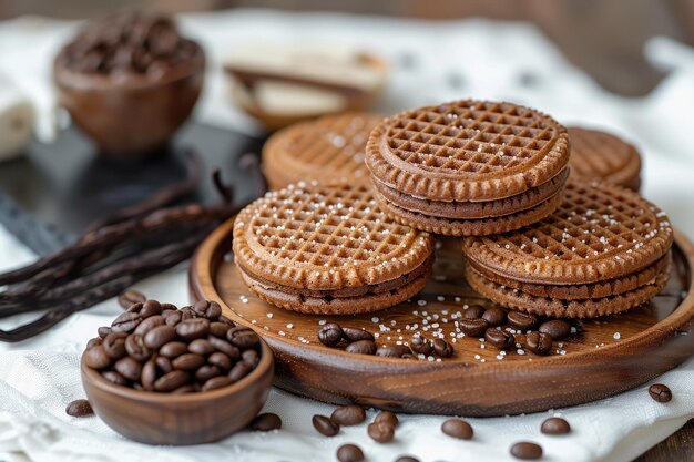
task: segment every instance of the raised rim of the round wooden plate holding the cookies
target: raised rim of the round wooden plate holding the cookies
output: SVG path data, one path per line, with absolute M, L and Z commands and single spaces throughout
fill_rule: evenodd
M 226 222 L 224 222 L 223 224 L 221 224 L 198 246 L 195 254 L 193 255 L 193 258 L 191 259 L 191 265 L 188 268 L 188 283 L 190 283 L 192 295 L 194 297 L 205 298 L 205 299 L 210 299 L 210 300 L 214 300 L 218 302 L 223 307 L 224 310 L 231 311 L 233 316 L 232 320 L 234 322 L 238 322 L 249 328 L 254 328 L 253 325 L 249 325 L 244 318 L 237 316 L 235 311 L 232 308 L 229 308 L 226 305 L 226 302 L 224 302 L 224 300 L 220 297 L 220 294 L 216 290 L 216 284 L 214 283 L 213 276 L 212 276 L 214 274 L 212 271 L 213 267 L 217 266 L 218 263 L 221 261 L 222 256 L 216 255 L 216 254 L 222 248 L 222 243 L 225 243 L 225 242 L 231 243 L 231 239 L 228 237 L 232 234 L 235 219 L 236 219 L 236 216 L 233 216 Z M 680 302 L 680 305 L 677 306 L 677 308 L 675 308 L 674 311 L 672 311 L 665 318 L 657 321 L 656 324 L 649 327 L 647 329 L 627 339 L 621 340 L 620 342 L 605 345 L 594 350 L 579 351 L 579 352 L 574 352 L 571 355 L 565 355 L 565 356 L 552 355 L 549 357 L 541 357 L 541 358 L 537 358 L 530 363 L 527 363 L 525 366 L 528 368 L 539 367 L 539 365 L 565 367 L 569 363 L 573 362 L 574 360 L 578 360 L 584 357 L 589 357 L 592 360 L 599 360 L 600 358 L 609 357 L 611 352 L 615 349 L 623 350 L 624 348 L 627 348 L 630 346 L 634 346 L 634 348 L 639 348 L 637 343 L 640 343 L 643 340 L 653 341 L 654 339 L 664 339 L 665 337 L 667 337 L 672 329 L 676 328 L 677 325 L 682 324 L 681 318 L 687 316 L 685 315 L 685 312 L 691 310 L 690 307 L 694 306 L 694 280 L 691 274 L 691 269 L 694 267 L 694 244 L 692 244 L 692 242 L 684 234 L 680 233 L 676 229 L 674 229 L 674 244 L 676 246 L 676 248 L 674 248 L 674 251 L 680 251 L 682 254 L 682 256 L 684 257 L 684 259 L 686 260 L 688 265 L 688 270 L 690 270 L 687 295 Z M 204 267 L 205 261 L 210 261 L 210 265 L 211 265 L 211 267 L 208 268 L 210 270 L 201 271 L 201 269 L 203 269 Z M 203 291 L 203 286 L 205 285 L 207 285 L 208 287 L 214 287 L 215 288 L 214 294 L 205 294 Z M 691 314 L 688 316 L 691 318 Z M 329 318 L 330 316 L 326 315 L 326 319 L 329 319 Z M 266 335 L 264 333 L 262 329 L 255 328 L 254 330 L 256 330 L 256 332 L 258 332 L 261 337 Z M 482 372 L 484 371 L 484 365 L 478 365 L 473 362 L 402 361 L 402 359 L 400 358 L 377 357 L 374 355 L 368 355 L 368 356 L 354 355 L 347 351 L 343 351 L 343 350 L 335 349 L 335 348 L 328 348 L 328 347 L 325 347 L 323 345 L 317 345 L 317 343 L 304 345 L 304 343 L 299 343 L 298 340 L 280 339 L 272 335 L 269 335 L 268 338 L 271 338 L 273 341 L 282 342 L 292 348 L 302 348 L 302 349 L 305 349 L 306 351 L 313 350 L 315 352 L 323 353 L 323 355 L 326 355 L 326 353 L 335 355 L 336 358 L 344 358 L 345 360 L 349 361 L 351 365 L 355 365 L 355 366 L 372 367 L 374 362 L 376 361 L 376 362 L 382 362 L 382 363 L 388 363 L 388 365 L 397 365 L 400 368 L 410 369 L 410 370 L 418 370 L 418 369 L 431 370 L 435 368 L 446 369 L 446 368 L 451 368 L 451 367 L 465 367 L 465 368 L 474 367 L 474 368 L 479 368 L 477 369 L 478 371 L 482 371 Z M 507 369 L 511 370 L 516 368 L 518 368 L 517 361 L 509 361 L 509 362 L 501 361 L 501 362 L 494 363 L 494 367 L 489 368 L 489 370 L 493 369 L 494 372 L 498 372 L 498 371 L 504 371 Z

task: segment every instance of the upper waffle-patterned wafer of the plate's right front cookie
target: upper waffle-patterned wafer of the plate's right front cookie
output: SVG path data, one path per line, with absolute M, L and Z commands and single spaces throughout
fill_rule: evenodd
M 524 229 L 470 237 L 466 256 L 503 278 L 531 284 L 591 284 L 633 274 L 663 257 L 673 230 L 639 194 L 570 179 L 549 217 Z

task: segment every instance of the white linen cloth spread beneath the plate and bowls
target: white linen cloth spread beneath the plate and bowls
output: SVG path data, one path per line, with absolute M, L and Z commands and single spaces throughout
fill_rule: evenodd
M 665 209 L 675 226 L 694 236 L 694 51 L 665 39 L 649 43 L 649 59 L 670 74 L 646 97 L 624 99 L 602 91 L 570 65 L 535 29 L 483 20 L 418 22 L 339 14 L 290 14 L 234 11 L 181 18 L 186 32 L 203 42 L 211 58 L 207 86 L 196 116 L 207 123 L 254 130 L 231 109 L 224 96 L 220 60 L 245 40 L 334 41 L 353 43 L 391 63 L 385 113 L 460 97 L 502 99 L 538 107 L 564 123 L 604 126 L 632 140 L 645 157 L 646 197 Z M 35 100 L 42 119 L 40 136 L 52 132 L 54 96 L 50 62 L 73 24 L 24 18 L 0 23 L 0 73 Z M 402 64 L 402 53 L 415 65 Z M 447 83 L 450 72 L 461 86 Z M 534 85 L 518 75 L 532 72 Z M 1 167 L 1 166 L 0 166 Z M 0 268 L 33 258 L 0 228 Z M 185 265 L 137 286 L 153 298 L 187 300 Z M 653 401 L 647 384 L 611 399 L 530 415 L 469 419 L 476 437 L 458 441 L 440 432 L 442 417 L 400 415 L 396 440 L 378 444 L 366 424 L 344 428 L 335 438 L 319 435 L 310 424 L 315 413 L 333 407 L 274 389 L 265 411 L 278 413 L 280 431 L 241 432 L 222 442 L 190 448 L 155 448 L 130 442 L 98 418 L 64 413 L 70 401 L 83 398 L 79 356 L 96 328 L 119 312 L 114 300 L 78 314 L 49 332 L 18 345 L 0 345 L 0 460 L 73 461 L 253 461 L 313 462 L 335 460 L 344 443 L 359 444 L 369 461 L 395 461 L 412 454 L 421 461 L 508 461 L 510 445 L 535 441 L 547 461 L 631 461 L 694 417 L 694 359 L 659 379 L 673 390 L 667 404 Z M 27 318 L 24 316 L 23 318 Z M 19 322 L 3 321 L 1 327 Z M 542 420 L 559 412 L 572 425 L 565 437 L 539 432 Z M 370 411 L 369 418 L 372 418 Z

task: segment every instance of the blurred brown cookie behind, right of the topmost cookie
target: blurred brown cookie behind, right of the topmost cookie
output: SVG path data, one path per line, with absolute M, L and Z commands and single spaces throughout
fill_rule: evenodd
M 580 127 L 570 127 L 569 138 L 573 176 L 639 191 L 641 155 L 633 145 L 610 133 Z

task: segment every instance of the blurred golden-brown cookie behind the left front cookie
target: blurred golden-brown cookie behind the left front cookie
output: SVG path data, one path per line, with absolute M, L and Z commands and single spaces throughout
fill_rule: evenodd
M 300 122 L 275 133 L 263 147 L 262 167 L 271 189 L 313 179 L 367 183 L 366 142 L 382 119 L 349 112 Z

